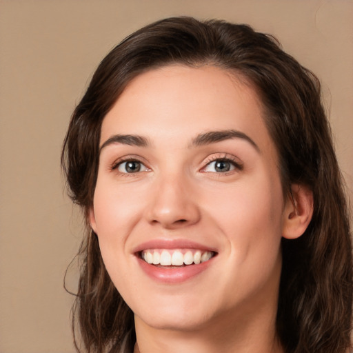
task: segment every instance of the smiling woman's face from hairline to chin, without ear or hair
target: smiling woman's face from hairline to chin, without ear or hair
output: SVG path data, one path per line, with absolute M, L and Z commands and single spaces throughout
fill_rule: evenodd
M 90 223 L 137 323 L 275 315 L 277 161 L 259 98 L 234 73 L 171 65 L 130 82 L 103 120 Z

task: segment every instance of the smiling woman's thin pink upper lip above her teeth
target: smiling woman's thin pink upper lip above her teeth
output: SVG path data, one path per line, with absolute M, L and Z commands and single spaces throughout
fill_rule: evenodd
M 210 248 L 207 245 L 190 241 L 189 239 L 152 239 L 137 245 L 133 252 L 139 253 L 147 249 L 197 249 L 201 251 L 217 252 L 215 248 Z

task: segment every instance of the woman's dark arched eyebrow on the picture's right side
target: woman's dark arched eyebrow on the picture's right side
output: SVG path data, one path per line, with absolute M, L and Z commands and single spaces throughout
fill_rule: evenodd
M 219 130 L 219 131 L 208 131 L 203 134 L 197 135 L 190 145 L 190 147 L 198 147 L 202 145 L 210 145 L 211 143 L 225 141 L 229 139 L 243 139 L 250 143 L 257 152 L 260 152 L 260 148 L 256 143 L 248 137 L 247 134 L 244 134 L 238 130 Z

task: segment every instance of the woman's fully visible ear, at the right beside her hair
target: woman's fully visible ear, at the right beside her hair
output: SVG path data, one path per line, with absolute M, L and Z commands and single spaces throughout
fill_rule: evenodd
M 313 209 L 312 190 L 305 185 L 293 184 L 283 212 L 283 238 L 299 238 L 312 220 Z

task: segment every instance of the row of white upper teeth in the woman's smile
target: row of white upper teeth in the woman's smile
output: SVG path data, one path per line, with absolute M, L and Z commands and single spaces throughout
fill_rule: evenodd
M 198 265 L 201 262 L 210 260 L 211 257 L 212 252 L 201 252 L 201 250 L 197 250 L 194 254 L 192 254 L 191 251 L 187 251 L 183 254 L 180 250 L 174 250 L 172 253 L 167 250 L 163 250 L 162 252 L 156 250 L 144 250 L 142 252 L 142 259 L 147 263 L 162 266 L 181 266 L 191 265 L 192 263 Z

